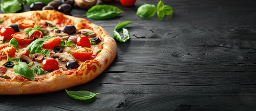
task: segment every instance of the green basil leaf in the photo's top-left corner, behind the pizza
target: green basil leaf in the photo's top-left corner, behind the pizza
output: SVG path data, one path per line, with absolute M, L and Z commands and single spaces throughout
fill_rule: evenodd
M 3 0 L 0 8 L 5 13 L 14 13 L 22 9 L 18 0 Z

